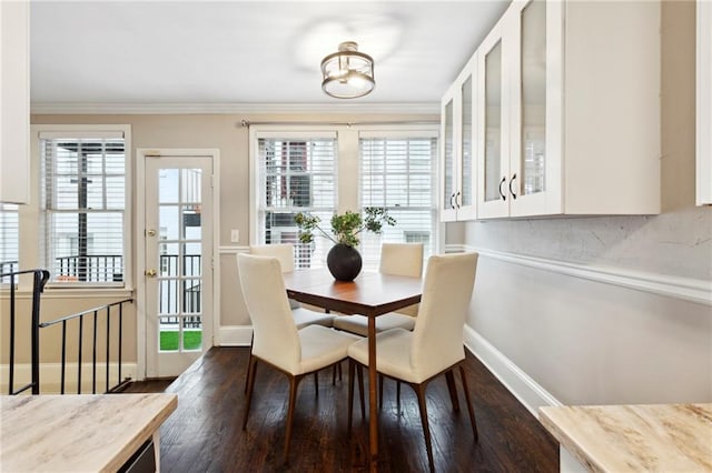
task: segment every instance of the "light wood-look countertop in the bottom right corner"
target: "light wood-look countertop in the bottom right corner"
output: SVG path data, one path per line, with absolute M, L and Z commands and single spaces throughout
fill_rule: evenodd
M 712 471 L 712 404 L 541 407 L 540 421 L 593 472 Z

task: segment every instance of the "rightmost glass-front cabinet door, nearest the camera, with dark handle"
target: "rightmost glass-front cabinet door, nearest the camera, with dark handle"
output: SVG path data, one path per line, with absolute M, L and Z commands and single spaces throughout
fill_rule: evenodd
M 561 61 L 555 60 L 561 58 L 561 8 L 545 0 L 513 6 L 507 185 L 513 217 L 562 212 Z

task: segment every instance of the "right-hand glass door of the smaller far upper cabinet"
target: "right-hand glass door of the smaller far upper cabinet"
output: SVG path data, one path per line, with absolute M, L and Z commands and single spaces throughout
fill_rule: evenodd
M 475 101 L 474 74 L 466 76 L 459 88 L 459 153 L 456 159 L 457 191 L 455 201 L 457 220 L 472 220 L 475 215 Z

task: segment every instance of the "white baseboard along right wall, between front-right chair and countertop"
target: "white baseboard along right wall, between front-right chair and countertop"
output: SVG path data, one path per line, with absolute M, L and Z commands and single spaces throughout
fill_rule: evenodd
M 497 380 L 538 419 L 538 407 L 563 405 L 556 397 L 530 378 L 494 345 L 471 326 L 465 325 L 465 346 Z

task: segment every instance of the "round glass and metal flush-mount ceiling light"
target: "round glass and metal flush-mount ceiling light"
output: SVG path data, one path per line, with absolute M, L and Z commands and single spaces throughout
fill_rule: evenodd
M 374 60 L 358 52 L 358 44 L 346 41 L 322 60 L 322 90 L 337 99 L 355 99 L 374 90 Z

